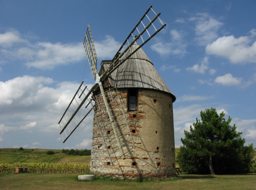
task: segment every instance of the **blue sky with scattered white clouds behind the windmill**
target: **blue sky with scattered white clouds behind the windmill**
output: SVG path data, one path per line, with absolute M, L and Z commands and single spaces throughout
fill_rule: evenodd
M 142 49 L 177 98 L 175 146 L 213 107 L 255 147 L 256 1 L 0 0 L 0 148 L 90 149 L 92 117 L 64 144 L 57 125 L 80 83 L 94 83 L 87 24 L 100 63 L 151 5 L 167 26 Z

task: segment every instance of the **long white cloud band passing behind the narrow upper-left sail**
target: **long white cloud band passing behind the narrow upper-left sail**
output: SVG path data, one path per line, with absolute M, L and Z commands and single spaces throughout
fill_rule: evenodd
M 15 46 L 13 46 L 15 44 Z M 95 41 L 97 56 L 112 59 L 118 51 L 118 41 L 107 35 L 102 41 Z M 0 34 L 0 55 L 6 60 L 20 59 L 28 67 L 52 70 L 59 65 L 73 64 L 86 59 L 82 43 L 51 43 L 39 41 L 35 44 L 23 39 L 19 32 L 10 31 Z M 12 47 L 12 48 L 11 48 Z

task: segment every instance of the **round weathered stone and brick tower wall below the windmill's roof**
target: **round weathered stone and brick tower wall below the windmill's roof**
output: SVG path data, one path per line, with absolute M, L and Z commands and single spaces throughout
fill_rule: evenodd
M 121 95 L 121 101 L 125 102 L 125 114 L 135 142 L 135 149 L 131 149 L 125 154 L 126 159 L 119 158 L 112 165 L 107 152 L 109 147 L 105 147 L 98 124 L 94 122 L 91 172 L 99 175 L 121 177 L 164 177 L 175 175 L 171 95 L 156 90 L 139 89 L 137 111 L 127 110 L 127 89 L 121 89 L 119 95 Z M 114 108 L 115 104 L 110 106 Z M 112 112 L 114 113 L 115 109 Z M 102 120 L 102 122 L 104 121 Z M 118 126 L 121 127 L 124 124 L 124 122 L 119 122 Z M 110 123 L 106 123 L 106 125 L 109 127 Z M 126 132 L 124 128 L 120 133 L 125 134 Z M 105 131 L 104 135 L 108 135 L 107 133 L 112 134 L 113 130 L 110 128 L 108 132 Z M 118 135 L 121 135 L 120 133 Z M 127 137 L 124 136 L 121 139 L 121 143 L 125 143 L 126 140 Z M 131 142 L 127 143 L 124 152 L 131 147 Z M 113 144 L 111 149 L 118 149 L 117 144 Z M 118 150 L 116 155 L 120 156 Z M 115 160 L 115 157 L 112 160 Z

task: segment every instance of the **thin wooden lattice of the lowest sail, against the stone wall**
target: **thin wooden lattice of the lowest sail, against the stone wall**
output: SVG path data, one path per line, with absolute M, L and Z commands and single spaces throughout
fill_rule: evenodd
M 108 89 L 106 92 L 108 106 L 112 112 L 112 119 L 114 120 L 115 129 L 118 133 L 119 141 L 124 153 L 127 154 L 131 149 L 135 148 L 135 144 L 131 135 L 131 130 L 126 120 L 124 108 L 125 102 L 121 100 L 118 90 L 114 87 Z M 103 101 L 102 95 L 96 95 L 92 98 L 95 101 L 93 106 L 95 113 L 94 126 L 100 131 L 105 149 L 108 152 L 109 159 L 112 164 L 121 158 L 117 140 L 112 130 L 110 119 L 106 112 L 106 105 Z

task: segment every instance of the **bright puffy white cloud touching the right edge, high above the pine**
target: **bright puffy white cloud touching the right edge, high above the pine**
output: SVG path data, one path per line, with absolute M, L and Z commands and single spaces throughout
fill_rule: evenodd
M 256 30 L 251 30 L 255 35 Z M 218 38 L 205 48 L 207 54 L 225 57 L 231 63 L 256 63 L 256 41 L 249 36 L 235 38 L 233 35 Z

